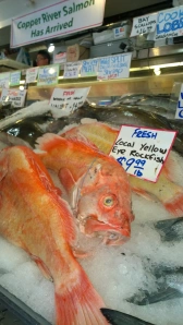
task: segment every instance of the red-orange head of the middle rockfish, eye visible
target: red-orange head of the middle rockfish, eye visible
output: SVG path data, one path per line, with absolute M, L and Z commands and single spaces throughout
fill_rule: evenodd
M 134 219 L 131 186 L 124 169 L 111 158 L 95 164 L 83 179 L 77 205 L 82 232 L 102 236 L 106 244 L 121 244 L 131 236 Z

